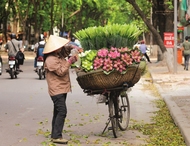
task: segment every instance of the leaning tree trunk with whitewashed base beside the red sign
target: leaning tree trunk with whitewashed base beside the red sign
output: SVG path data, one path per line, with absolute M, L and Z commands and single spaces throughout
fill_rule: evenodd
M 135 2 L 135 0 L 126 0 L 126 2 L 130 3 L 133 8 L 137 11 L 137 13 L 139 14 L 139 16 L 142 18 L 142 20 L 144 21 L 144 23 L 147 25 L 147 27 L 149 28 L 149 30 L 152 32 L 155 41 L 157 42 L 157 44 L 160 46 L 161 52 L 164 55 L 164 59 L 163 61 L 166 61 L 167 67 L 169 72 L 173 72 L 174 70 L 174 65 L 173 63 L 171 63 L 171 60 L 167 59 L 167 58 L 171 58 L 170 57 L 170 53 L 167 52 L 166 47 L 164 46 L 163 40 L 161 35 L 159 34 L 159 32 L 157 31 L 157 29 L 155 29 L 153 27 L 153 25 L 151 25 L 150 21 L 146 18 L 145 14 L 143 13 L 143 11 L 139 8 L 139 6 L 137 5 L 137 3 Z

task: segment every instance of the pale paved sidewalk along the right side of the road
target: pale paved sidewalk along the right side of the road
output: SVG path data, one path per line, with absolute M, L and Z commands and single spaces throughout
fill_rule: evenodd
M 151 58 L 155 60 L 155 58 Z M 190 70 L 177 65 L 177 73 L 168 72 L 167 66 L 152 61 L 148 64 L 153 83 L 165 100 L 170 114 L 179 127 L 187 146 L 190 146 Z

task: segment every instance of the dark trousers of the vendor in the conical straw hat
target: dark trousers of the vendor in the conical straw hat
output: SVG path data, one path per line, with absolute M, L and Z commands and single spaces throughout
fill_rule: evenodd
M 62 138 L 63 126 L 67 115 L 66 98 L 67 94 L 51 96 L 54 104 L 51 138 Z

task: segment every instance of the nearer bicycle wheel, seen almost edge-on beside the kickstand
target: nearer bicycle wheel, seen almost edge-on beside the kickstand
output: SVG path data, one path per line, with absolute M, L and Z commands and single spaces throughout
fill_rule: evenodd
M 112 125 L 112 132 L 115 138 L 117 138 L 118 136 L 118 119 L 116 116 L 117 113 L 117 107 L 115 106 L 115 102 L 114 102 L 114 94 L 112 93 L 110 95 L 109 98 L 109 102 L 108 102 L 108 107 L 109 107 L 109 116 L 110 116 L 110 120 L 111 120 L 111 125 Z

